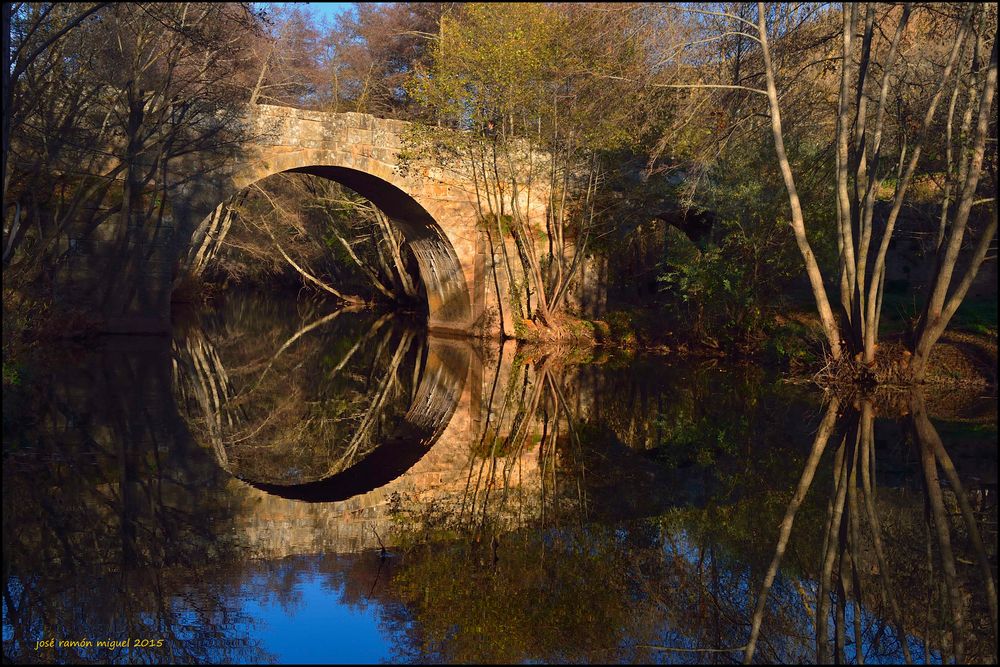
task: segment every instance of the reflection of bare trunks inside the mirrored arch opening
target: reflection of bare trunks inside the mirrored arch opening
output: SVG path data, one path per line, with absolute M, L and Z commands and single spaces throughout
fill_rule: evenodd
M 415 330 L 357 309 L 295 325 L 269 304 L 235 307 L 242 312 L 225 313 L 224 324 L 206 318 L 175 343 L 182 412 L 233 474 L 281 484 L 328 477 L 404 420 L 426 349 Z

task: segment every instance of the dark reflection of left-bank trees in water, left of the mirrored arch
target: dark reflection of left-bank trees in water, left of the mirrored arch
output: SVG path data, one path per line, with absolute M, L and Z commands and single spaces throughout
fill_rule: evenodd
M 31 410 L 5 424 L 5 660 L 267 659 L 232 603 L 239 578 L 218 566 L 237 546 L 218 530 L 225 477 L 179 428 L 169 364 L 155 340 L 125 340 L 39 378 Z M 52 637 L 166 641 L 34 650 Z

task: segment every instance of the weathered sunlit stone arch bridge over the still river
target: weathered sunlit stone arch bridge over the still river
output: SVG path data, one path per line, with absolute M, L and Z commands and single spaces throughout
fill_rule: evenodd
M 487 280 L 494 258 L 477 226 L 475 184 L 446 167 L 401 169 L 407 125 L 359 113 L 254 107 L 247 116 L 253 139 L 238 157 L 222 169 L 196 173 L 173 197 L 171 247 L 148 274 L 175 276 L 192 238 L 204 236 L 212 216 L 241 190 L 277 173 L 307 173 L 368 198 L 402 231 L 425 287 L 431 329 L 479 335 L 497 330 L 497 289 Z M 169 297 L 162 287 L 140 290 L 133 313 L 169 322 Z M 126 318 L 120 328 L 143 328 L 135 319 Z

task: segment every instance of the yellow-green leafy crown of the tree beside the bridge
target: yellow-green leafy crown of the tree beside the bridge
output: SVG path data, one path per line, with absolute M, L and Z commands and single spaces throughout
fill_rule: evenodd
M 547 128 L 562 145 L 568 131 L 579 150 L 615 150 L 637 134 L 637 106 L 616 93 L 629 77 L 599 79 L 590 72 L 627 73 L 642 60 L 635 49 L 602 33 L 606 16 L 565 6 L 472 3 L 442 21 L 430 72 L 415 76 L 425 105 L 474 128 L 508 119 L 506 138 Z M 517 119 L 517 128 L 514 127 Z M 534 136 L 537 141 L 539 136 Z M 582 139 L 582 143 L 580 142 Z

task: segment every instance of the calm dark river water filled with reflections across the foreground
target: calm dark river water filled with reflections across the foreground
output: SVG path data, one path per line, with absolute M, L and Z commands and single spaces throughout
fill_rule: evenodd
M 4 388 L 5 661 L 996 655 L 995 397 L 178 320 Z

